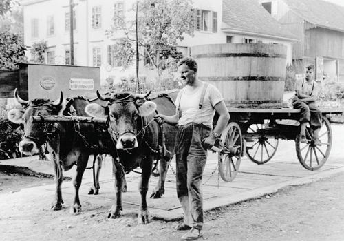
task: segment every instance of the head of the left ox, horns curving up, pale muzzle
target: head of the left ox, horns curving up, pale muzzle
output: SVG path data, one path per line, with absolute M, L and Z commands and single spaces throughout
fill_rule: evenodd
M 61 115 L 65 109 L 63 94 L 57 101 L 50 101 L 45 98 L 35 98 L 30 101 L 23 101 L 17 89 L 14 90 L 14 97 L 24 107 L 24 111 L 11 109 L 8 112 L 8 119 L 17 124 L 24 125 L 24 136 L 19 143 L 19 151 L 25 155 L 33 155 L 39 152 L 41 146 L 47 140 L 47 123 L 32 123 L 30 116 Z

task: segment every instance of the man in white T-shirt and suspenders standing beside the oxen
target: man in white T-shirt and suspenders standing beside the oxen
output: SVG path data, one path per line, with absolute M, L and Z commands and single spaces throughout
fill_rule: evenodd
M 184 222 L 176 229 L 190 229 L 181 240 L 196 240 L 202 237 L 202 175 L 207 149 L 213 147 L 215 140 L 226 127 L 229 114 L 219 90 L 197 78 L 195 59 L 181 59 L 178 62 L 178 71 L 185 87 L 178 93 L 175 101 L 176 114 L 158 114 L 155 120 L 160 124 L 178 124 L 175 138 L 177 196 L 184 211 Z M 215 111 L 219 114 L 219 119 L 213 129 Z

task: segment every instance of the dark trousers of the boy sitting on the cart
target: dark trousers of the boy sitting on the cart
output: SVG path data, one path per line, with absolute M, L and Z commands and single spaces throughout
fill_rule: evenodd
M 315 102 L 294 101 L 292 103 L 294 109 L 300 109 L 300 123 L 310 122 L 313 129 L 321 127 L 321 110 Z

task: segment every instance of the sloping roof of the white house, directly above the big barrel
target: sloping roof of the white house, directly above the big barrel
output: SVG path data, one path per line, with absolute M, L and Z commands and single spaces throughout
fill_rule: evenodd
M 223 0 L 223 30 L 299 40 L 274 19 L 257 0 Z

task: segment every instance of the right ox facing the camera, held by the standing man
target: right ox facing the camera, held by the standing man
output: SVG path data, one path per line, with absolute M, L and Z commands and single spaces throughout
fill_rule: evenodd
M 151 221 L 146 196 L 155 159 L 160 159 L 160 182 L 164 187 L 168 163 L 173 156 L 176 128 L 164 124 L 164 132 L 162 132 L 158 123 L 153 121 L 153 114 L 159 112 L 173 115 L 175 105 L 171 98 L 151 98 L 151 101 L 148 101 L 149 94 L 150 92 L 145 95 L 121 92 L 104 96 L 97 91 L 98 98 L 108 101 L 107 106 L 103 107 L 92 103 L 85 109 L 90 116 L 107 118 L 111 138 L 116 141 L 118 154 L 118 160 L 114 162 L 116 197 L 107 213 L 107 218 L 120 217 L 123 172 L 127 174 L 139 166 L 142 169 L 139 182 L 141 195 L 138 211 L 139 224 L 147 224 Z M 161 141 L 163 137 L 165 137 L 164 143 Z M 154 194 L 161 196 L 164 193 L 163 188 L 160 189 L 160 193 L 156 193 L 156 191 L 155 189 L 153 196 Z

